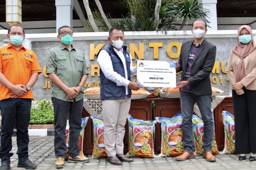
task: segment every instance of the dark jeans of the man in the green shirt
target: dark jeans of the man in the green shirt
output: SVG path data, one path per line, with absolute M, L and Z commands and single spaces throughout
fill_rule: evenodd
M 54 150 L 57 158 L 65 158 L 67 152 L 65 130 L 69 113 L 68 155 L 79 155 L 78 139 L 82 130 L 82 109 L 84 100 L 70 102 L 52 97 L 54 108 Z

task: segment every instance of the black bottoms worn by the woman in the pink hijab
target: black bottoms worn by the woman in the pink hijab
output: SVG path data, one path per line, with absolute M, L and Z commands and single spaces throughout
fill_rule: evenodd
M 243 88 L 244 94 L 232 90 L 235 113 L 235 151 L 256 153 L 256 90 Z

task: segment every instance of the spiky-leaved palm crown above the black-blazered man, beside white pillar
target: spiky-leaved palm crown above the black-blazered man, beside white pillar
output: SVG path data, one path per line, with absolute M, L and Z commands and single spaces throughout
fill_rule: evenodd
M 210 15 L 208 10 L 198 4 L 197 0 L 186 0 L 184 3 L 173 3 L 168 6 L 168 11 L 172 11 L 172 17 L 182 19 L 182 23 L 178 30 L 181 30 L 188 20 L 196 20 L 198 18 L 204 19 L 210 23 L 206 18 Z

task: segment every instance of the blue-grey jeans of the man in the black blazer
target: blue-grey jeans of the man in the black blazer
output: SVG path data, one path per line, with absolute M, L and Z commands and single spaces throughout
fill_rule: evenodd
M 212 141 L 214 139 L 214 123 L 212 119 L 211 103 L 212 95 L 194 95 L 192 92 L 180 91 L 180 105 L 182 114 L 183 146 L 185 151 L 194 152 L 194 137 L 192 131 L 192 115 L 195 102 L 198 105 L 204 122 L 204 152 L 212 152 Z

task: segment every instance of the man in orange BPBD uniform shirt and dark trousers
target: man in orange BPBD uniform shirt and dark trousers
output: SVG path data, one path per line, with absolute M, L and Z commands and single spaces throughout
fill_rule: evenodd
M 0 170 L 10 169 L 12 133 L 16 120 L 18 167 L 35 169 L 28 159 L 28 124 L 33 97 L 31 87 L 42 72 L 36 54 L 24 48 L 24 29 L 13 25 L 8 29 L 7 46 L 0 48 L 0 110 L 2 115 Z

